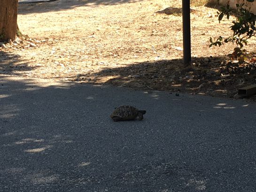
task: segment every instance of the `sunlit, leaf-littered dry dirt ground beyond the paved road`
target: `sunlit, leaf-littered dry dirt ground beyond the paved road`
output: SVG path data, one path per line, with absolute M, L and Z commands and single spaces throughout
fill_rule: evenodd
M 234 45 L 209 48 L 232 34 L 217 9 L 192 7 L 192 65 L 182 64 L 182 16 L 158 14 L 178 0 L 58 0 L 20 4 L 23 39 L 0 48 L 0 74 L 112 84 L 140 90 L 233 98 L 256 84 L 254 55 L 230 61 Z M 254 51 L 256 39 L 246 49 Z M 251 100 L 255 100 L 252 97 Z

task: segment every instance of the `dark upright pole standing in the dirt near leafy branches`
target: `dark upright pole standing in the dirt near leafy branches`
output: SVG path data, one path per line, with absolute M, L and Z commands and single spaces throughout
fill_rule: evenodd
M 182 0 L 183 64 L 191 64 L 190 0 Z

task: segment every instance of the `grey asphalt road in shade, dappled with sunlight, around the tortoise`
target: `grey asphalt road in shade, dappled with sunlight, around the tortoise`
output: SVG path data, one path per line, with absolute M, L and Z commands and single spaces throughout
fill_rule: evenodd
M 115 107 L 147 110 L 113 122 Z M 256 104 L 0 76 L 0 192 L 255 192 Z

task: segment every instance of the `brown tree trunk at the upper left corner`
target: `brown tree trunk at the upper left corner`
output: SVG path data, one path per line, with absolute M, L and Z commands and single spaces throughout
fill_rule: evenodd
M 18 0 L 0 0 L 0 38 L 16 39 Z

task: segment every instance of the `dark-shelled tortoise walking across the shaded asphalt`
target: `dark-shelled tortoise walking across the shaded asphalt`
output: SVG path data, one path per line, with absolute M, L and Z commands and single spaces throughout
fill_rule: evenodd
M 110 115 L 110 117 L 113 119 L 113 121 L 126 121 L 126 120 L 135 120 L 143 119 L 143 115 L 146 113 L 145 110 L 139 110 L 135 107 L 129 106 L 129 105 L 123 105 L 119 108 L 116 108 L 113 113 Z

